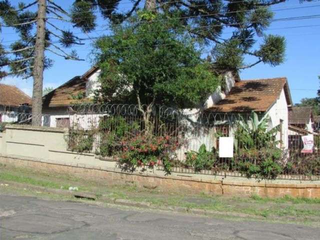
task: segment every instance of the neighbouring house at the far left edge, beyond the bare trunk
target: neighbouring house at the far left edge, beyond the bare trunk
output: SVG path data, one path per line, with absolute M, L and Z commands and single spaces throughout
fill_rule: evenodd
M 20 112 L 28 112 L 31 98 L 16 86 L 0 84 L 0 122 L 17 121 Z

